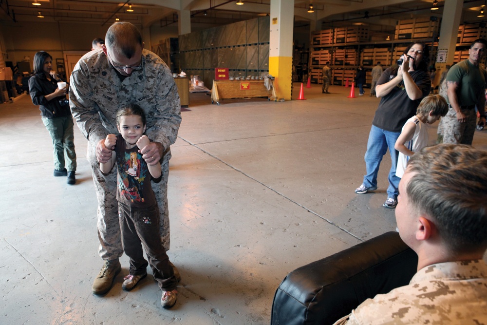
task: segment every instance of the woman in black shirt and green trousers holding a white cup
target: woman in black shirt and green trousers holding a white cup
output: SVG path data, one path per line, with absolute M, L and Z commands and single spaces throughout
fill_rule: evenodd
M 42 122 L 53 139 L 54 176 L 68 176 L 76 183 L 76 153 L 73 117 L 66 99 L 66 83 L 52 69 L 53 57 L 40 51 L 34 56 L 34 76 L 29 79 L 29 92 L 34 105 L 39 105 Z

